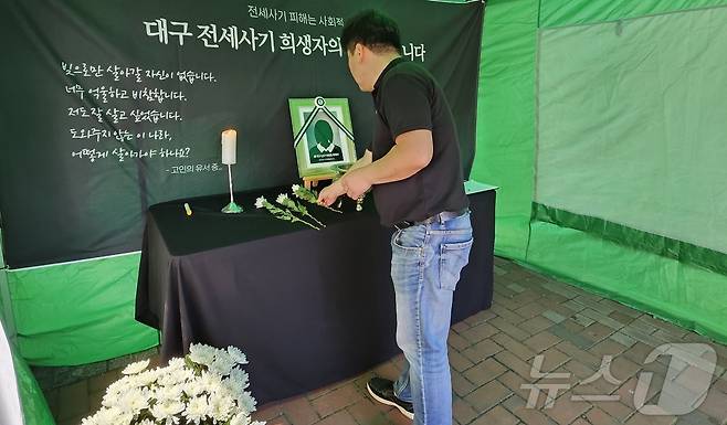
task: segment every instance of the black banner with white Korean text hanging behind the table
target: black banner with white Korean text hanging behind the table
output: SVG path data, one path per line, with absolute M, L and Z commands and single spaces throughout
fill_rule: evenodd
M 330 0 L 4 0 L 0 212 L 12 268 L 139 249 L 151 204 L 298 180 L 288 98 L 347 97 L 358 153 L 372 102 L 339 36 L 361 4 Z M 474 158 L 484 4 L 370 0 L 443 86 Z M 223 206 L 223 205 L 220 205 Z

